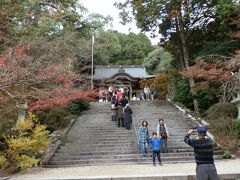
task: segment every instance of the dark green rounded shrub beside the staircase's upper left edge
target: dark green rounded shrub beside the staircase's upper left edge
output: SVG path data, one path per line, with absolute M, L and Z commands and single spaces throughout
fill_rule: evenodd
M 75 99 L 66 109 L 72 114 L 80 115 L 82 111 L 89 109 L 89 102 L 85 99 Z

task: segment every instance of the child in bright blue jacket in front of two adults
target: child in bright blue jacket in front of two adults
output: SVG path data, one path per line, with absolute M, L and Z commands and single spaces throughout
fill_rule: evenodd
M 161 150 L 161 144 L 162 144 L 162 139 L 157 136 L 156 132 L 152 133 L 152 136 L 149 137 L 149 144 L 152 145 L 152 157 L 153 157 L 153 166 L 156 166 L 156 156 L 158 158 L 158 163 L 159 165 L 162 166 L 162 160 L 160 156 L 160 150 Z

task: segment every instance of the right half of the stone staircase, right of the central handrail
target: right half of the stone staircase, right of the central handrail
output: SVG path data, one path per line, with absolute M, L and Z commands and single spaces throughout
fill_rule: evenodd
M 168 153 L 161 153 L 161 159 L 166 163 L 194 162 L 193 148 L 187 145 L 183 139 L 189 128 L 196 124 L 190 118 L 167 101 L 147 101 L 132 103 L 135 126 L 141 126 L 143 120 L 148 121 L 149 135 L 157 131 L 159 118 L 163 118 L 169 131 Z M 137 113 L 136 113 L 137 112 Z M 222 151 L 215 149 L 215 159 L 221 159 Z M 152 163 L 151 147 L 148 147 L 148 157 L 141 158 L 140 163 Z

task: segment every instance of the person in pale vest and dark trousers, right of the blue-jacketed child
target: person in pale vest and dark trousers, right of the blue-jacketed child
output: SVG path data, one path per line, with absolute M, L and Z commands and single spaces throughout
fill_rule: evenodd
M 157 135 L 160 136 L 163 141 L 161 144 L 162 153 L 167 153 L 167 139 L 169 137 L 169 133 L 163 118 L 159 119 L 159 124 L 157 125 Z

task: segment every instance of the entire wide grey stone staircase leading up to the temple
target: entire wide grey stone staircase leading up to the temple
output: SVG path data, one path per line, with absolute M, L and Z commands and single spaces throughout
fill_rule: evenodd
M 149 123 L 150 134 L 156 131 L 158 119 L 165 119 L 170 137 L 168 153 L 161 153 L 164 164 L 194 162 L 193 149 L 183 142 L 194 124 L 166 101 L 132 102 L 133 128 L 118 128 L 111 121 L 109 103 L 91 103 L 90 110 L 80 116 L 66 136 L 66 143 L 54 153 L 47 167 L 87 166 L 106 164 L 147 164 L 149 156 L 140 158 L 136 131 L 143 120 Z M 220 153 L 220 151 L 216 151 Z M 220 156 L 216 155 L 215 159 Z

